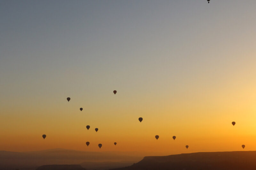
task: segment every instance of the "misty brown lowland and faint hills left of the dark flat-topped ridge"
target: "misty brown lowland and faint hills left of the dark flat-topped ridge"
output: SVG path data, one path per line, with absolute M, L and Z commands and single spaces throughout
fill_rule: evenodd
M 37 152 L 0 151 L 0 169 L 35 170 L 42 165 L 79 164 L 88 170 L 102 170 L 130 166 L 142 158 L 142 156 L 138 156 L 136 153 L 83 152 L 65 149 Z

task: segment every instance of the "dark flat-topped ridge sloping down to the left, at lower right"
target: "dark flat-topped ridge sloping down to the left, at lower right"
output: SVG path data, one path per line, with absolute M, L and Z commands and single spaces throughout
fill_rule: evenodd
M 140 162 L 112 170 L 254 170 L 256 151 L 197 152 L 144 157 Z

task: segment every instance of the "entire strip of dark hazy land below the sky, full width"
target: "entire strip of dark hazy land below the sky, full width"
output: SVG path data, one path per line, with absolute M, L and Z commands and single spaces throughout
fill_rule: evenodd
M 147 156 L 141 159 L 115 153 L 56 149 L 27 153 L 1 151 L 0 158 L 1 170 L 252 170 L 256 168 L 256 151 L 197 152 Z M 86 162 L 83 162 L 84 160 Z

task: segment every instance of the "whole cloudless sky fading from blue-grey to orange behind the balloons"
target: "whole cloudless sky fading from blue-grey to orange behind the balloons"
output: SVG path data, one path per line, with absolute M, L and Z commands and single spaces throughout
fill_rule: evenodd
M 0 150 L 256 150 L 255 7 L 0 1 Z

